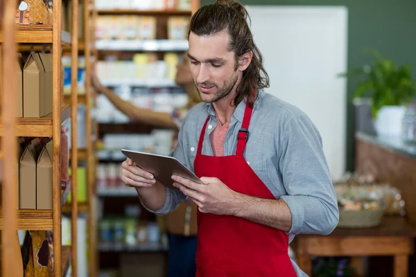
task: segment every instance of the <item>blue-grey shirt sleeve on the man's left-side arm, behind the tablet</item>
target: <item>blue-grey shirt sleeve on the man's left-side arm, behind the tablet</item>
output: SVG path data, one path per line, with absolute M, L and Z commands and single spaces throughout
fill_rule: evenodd
M 178 161 L 180 161 L 184 166 L 187 166 L 186 159 L 185 159 L 185 153 L 184 148 L 182 146 L 182 136 L 183 136 L 183 128 L 180 129 L 179 135 L 178 135 L 178 143 L 175 147 L 175 150 L 171 154 L 171 157 L 175 157 Z M 173 188 L 166 188 L 166 201 L 164 203 L 164 206 L 160 208 L 158 211 L 153 211 L 144 206 L 143 202 L 140 199 L 141 205 L 146 208 L 146 210 L 150 211 L 151 213 L 155 213 L 156 215 L 164 215 L 166 213 L 170 213 L 171 211 L 175 211 L 177 206 L 184 201 L 186 196 L 180 192 L 180 190 L 173 189 Z

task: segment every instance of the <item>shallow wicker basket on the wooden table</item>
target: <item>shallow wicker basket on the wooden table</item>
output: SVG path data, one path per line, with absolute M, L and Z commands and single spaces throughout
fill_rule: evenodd
M 370 228 L 379 226 L 383 218 L 383 208 L 377 210 L 344 210 L 340 208 L 340 220 L 338 227 L 341 228 Z

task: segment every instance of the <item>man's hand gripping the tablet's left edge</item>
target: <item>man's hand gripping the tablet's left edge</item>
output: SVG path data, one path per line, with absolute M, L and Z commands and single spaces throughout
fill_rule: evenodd
M 155 177 L 145 170 L 142 170 L 131 160 L 127 159 L 121 165 L 121 180 L 127 186 L 135 188 L 150 188 L 156 183 Z

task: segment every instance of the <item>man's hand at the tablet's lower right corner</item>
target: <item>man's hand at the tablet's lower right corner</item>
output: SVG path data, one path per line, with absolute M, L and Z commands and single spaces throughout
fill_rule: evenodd
M 205 183 L 198 184 L 189 179 L 184 179 L 177 175 L 172 176 L 173 186 L 178 188 L 184 195 L 187 195 L 195 202 L 200 212 L 213 213 L 215 215 L 233 215 L 234 203 L 237 200 L 238 193 L 228 188 L 218 178 L 202 177 L 201 181 Z

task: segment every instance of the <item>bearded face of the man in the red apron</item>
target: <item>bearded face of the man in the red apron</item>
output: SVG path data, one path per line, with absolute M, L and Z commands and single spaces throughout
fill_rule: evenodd
M 189 34 L 189 61 L 192 78 L 204 102 L 230 96 L 239 72 L 235 71 L 234 52 L 227 50 L 226 31 L 211 36 Z

